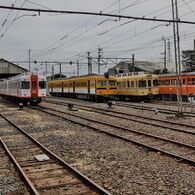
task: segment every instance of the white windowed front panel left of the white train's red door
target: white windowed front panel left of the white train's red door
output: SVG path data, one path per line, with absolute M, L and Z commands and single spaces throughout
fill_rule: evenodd
M 31 97 L 31 78 L 23 76 L 19 79 L 19 96 L 22 98 Z

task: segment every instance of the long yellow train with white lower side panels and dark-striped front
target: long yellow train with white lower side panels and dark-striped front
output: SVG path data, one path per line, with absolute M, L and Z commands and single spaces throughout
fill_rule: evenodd
M 116 78 L 109 75 L 84 75 L 48 82 L 53 96 L 93 101 L 108 100 L 117 94 Z

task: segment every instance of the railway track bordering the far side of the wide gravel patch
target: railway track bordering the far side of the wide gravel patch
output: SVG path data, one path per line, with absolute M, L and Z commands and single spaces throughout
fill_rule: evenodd
M 172 139 L 163 138 L 142 131 L 126 128 L 119 125 L 110 124 L 107 122 L 89 119 L 89 117 L 79 116 L 77 114 L 66 113 L 48 107 L 33 108 L 60 117 L 64 120 L 81 125 L 97 132 L 104 133 L 117 139 L 126 142 L 132 142 L 149 150 L 161 152 L 171 157 L 177 158 L 180 161 L 195 165 L 195 146 L 173 141 Z

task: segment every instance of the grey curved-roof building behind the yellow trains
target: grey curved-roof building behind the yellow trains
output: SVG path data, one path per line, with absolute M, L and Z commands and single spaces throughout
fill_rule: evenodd
M 108 72 L 110 75 L 128 72 L 148 72 L 159 74 L 162 70 L 163 67 L 148 61 L 135 61 L 134 65 L 131 61 L 121 61 L 116 66 L 110 68 Z

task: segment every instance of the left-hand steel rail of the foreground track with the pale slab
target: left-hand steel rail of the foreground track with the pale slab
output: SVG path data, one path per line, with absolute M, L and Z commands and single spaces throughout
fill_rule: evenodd
M 9 158 L 14 163 L 16 169 L 19 171 L 19 174 L 22 177 L 23 181 L 26 183 L 27 188 L 30 190 L 32 194 L 39 195 L 39 192 L 36 190 L 35 186 L 32 184 L 28 176 L 25 174 L 22 167 L 18 164 L 18 162 L 16 161 L 16 159 L 14 158 L 14 156 L 12 155 L 12 153 L 10 152 L 2 138 L 0 138 L 0 142 L 3 148 L 5 149 L 6 153 L 8 154 Z

